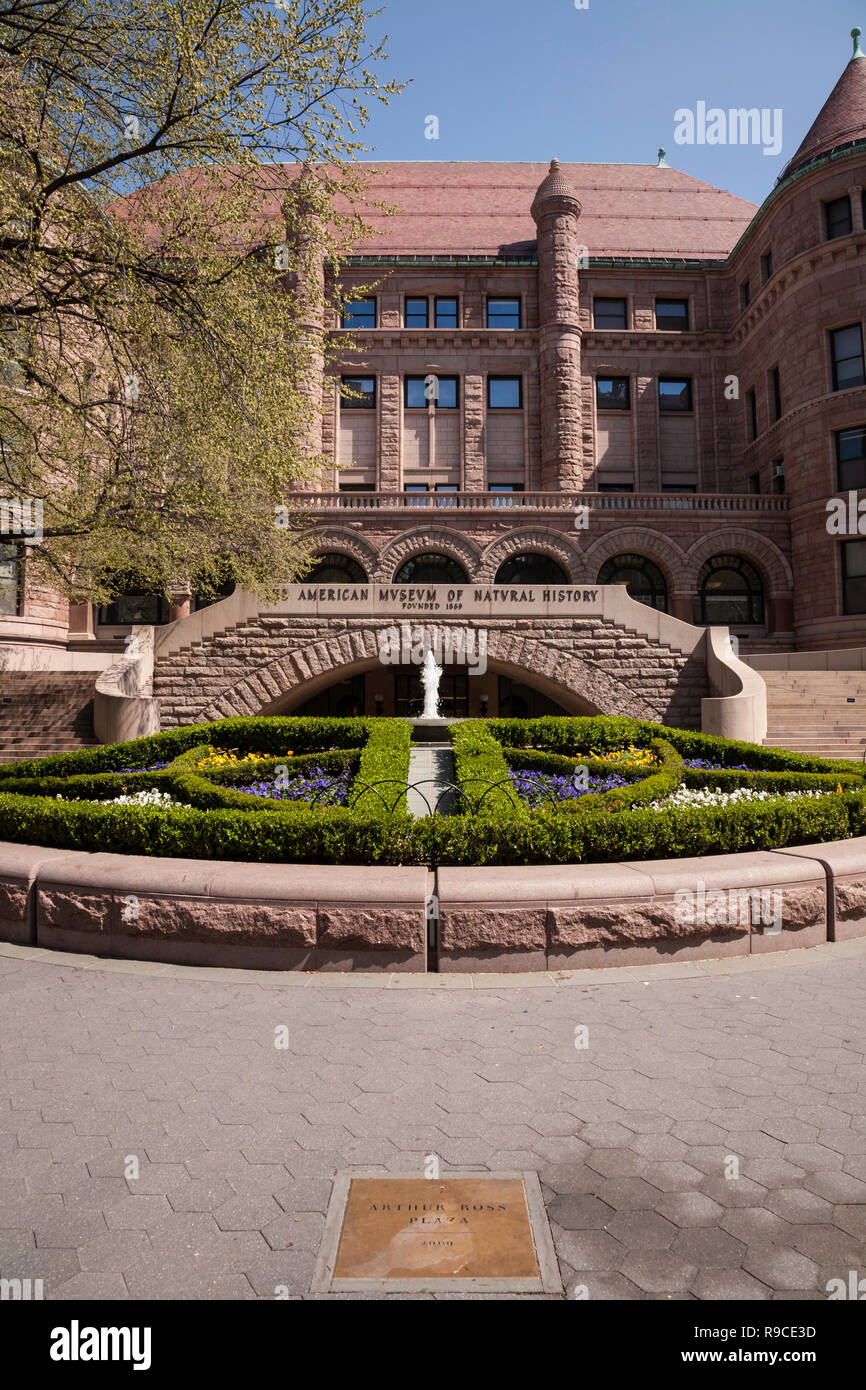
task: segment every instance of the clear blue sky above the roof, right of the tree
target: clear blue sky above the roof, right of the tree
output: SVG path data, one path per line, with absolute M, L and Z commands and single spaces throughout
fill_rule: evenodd
M 375 111 L 391 160 L 667 161 L 753 203 L 771 190 L 848 58 L 866 0 L 386 0 L 389 71 L 413 78 Z M 783 113 L 783 145 L 677 145 L 674 113 Z M 439 139 L 425 139 L 425 117 Z

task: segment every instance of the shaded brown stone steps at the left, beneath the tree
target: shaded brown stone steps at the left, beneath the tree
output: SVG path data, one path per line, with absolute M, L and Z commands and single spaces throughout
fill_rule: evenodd
M 0 762 L 96 746 L 96 671 L 0 671 Z

